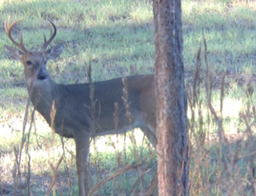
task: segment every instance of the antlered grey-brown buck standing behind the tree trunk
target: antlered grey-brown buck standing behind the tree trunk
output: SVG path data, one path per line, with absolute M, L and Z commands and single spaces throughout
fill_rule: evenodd
M 136 127 L 149 138 L 153 146 L 156 146 L 155 134 L 155 94 L 154 75 L 137 75 L 126 78 L 128 102 L 130 103 L 131 122 L 126 117 L 126 108 L 122 99 L 123 83 L 122 78 L 115 78 L 103 82 L 94 82 L 94 113 L 91 112 L 90 83 L 62 85 L 54 82 L 46 70 L 46 62 L 58 58 L 62 53 L 62 44 L 46 50 L 56 35 L 50 35 L 47 41 L 44 36 L 44 44 L 40 51 L 29 51 L 21 41 L 16 42 L 12 38 L 11 30 L 20 22 L 19 19 L 9 25 L 5 23 L 6 33 L 18 49 L 5 46 L 9 58 L 18 60 L 24 65 L 26 86 L 30 94 L 30 100 L 34 107 L 46 119 L 50 126 L 54 123 L 54 130 L 57 134 L 74 138 L 76 144 L 78 187 L 79 195 L 85 195 L 85 172 L 86 157 L 90 143 L 90 136 L 124 133 Z M 34 76 L 35 75 L 35 76 Z M 50 111 L 56 110 L 54 122 L 50 118 Z M 118 130 L 114 123 L 114 104 L 118 103 Z M 94 114 L 94 117 L 92 115 Z M 95 119 L 95 120 L 94 120 Z

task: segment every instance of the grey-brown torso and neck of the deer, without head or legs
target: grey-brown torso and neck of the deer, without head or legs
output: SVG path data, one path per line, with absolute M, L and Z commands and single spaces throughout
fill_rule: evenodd
M 77 130 L 84 130 L 94 136 L 122 134 L 139 127 L 154 130 L 155 120 L 145 110 L 155 111 L 154 76 L 138 75 L 127 77 L 132 124 L 126 117 L 123 105 L 122 78 L 94 82 L 94 117 L 90 111 L 90 84 L 60 85 L 51 78 L 34 82 L 31 101 L 36 110 L 51 126 L 50 110 L 55 102 L 54 130 L 66 138 L 75 138 Z M 114 125 L 114 103 L 118 103 L 118 127 Z M 153 114 L 154 117 L 154 114 Z M 94 119 L 95 125 L 92 125 Z M 97 126 L 97 127 L 95 127 Z M 148 126 L 148 127 L 146 127 Z M 95 130 L 91 130 L 95 127 Z M 91 135 L 90 135 L 91 136 Z M 154 146 L 156 141 L 154 141 Z

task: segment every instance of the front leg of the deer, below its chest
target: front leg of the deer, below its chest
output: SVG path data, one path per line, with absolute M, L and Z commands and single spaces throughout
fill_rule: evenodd
M 89 171 L 88 171 L 88 152 L 90 143 L 90 134 L 78 134 L 74 138 L 77 151 L 77 170 L 78 170 L 78 187 L 79 196 L 85 196 L 89 193 Z

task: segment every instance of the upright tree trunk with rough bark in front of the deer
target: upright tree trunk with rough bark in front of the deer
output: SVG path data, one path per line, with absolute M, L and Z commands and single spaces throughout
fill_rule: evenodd
M 189 195 L 180 0 L 153 0 L 158 195 Z

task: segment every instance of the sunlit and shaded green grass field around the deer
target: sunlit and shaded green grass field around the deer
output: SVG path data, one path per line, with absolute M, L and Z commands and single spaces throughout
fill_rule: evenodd
M 246 86 L 250 82 L 254 85 L 255 80 L 255 10 L 253 1 L 182 1 L 183 57 L 187 91 L 190 92 L 194 82 L 198 47 L 202 45 L 204 34 L 208 63 L 213 73 L 214 88 L 211 100 L 218 119 L 222 119 L 220 126 L 209 110 L 205 90 L 207 77 L 202 74 L 206 71 L 206 65 L 202 60 L 199 83 L 201 94 L 198 95 L 200 102 L 194 105 L 194 122 L 193 110 L 188 110 L 190 123 L 193 122 L 190 126 L 191 195 L 254 193 L 254 182 L 251 180 L 254 179 L 251 174 L 254 160 L 249 163 L 250 158 L 254 157 L 248 154 L 254 154 L 254 137 L 250 136 L 249 132 L 252 130 L 254 133 L 255 130 L 252 109 L 255 98 L 248 99 Z M 86 65 L 90 60 L 93 81 L 104 81 L 121 77 L 123 74 L 153 74 L 154 26 L 152 2 L 146 0 L 0 0 L 0 11 L 1 190 L 2 184 L 7 184 L 8 188 L 13 182 L 14 147 L 20 146 L 27 98 L 22 64 L 10 61 L 3 50 L 4 45 L 13 46 L 3 28 L 8 15 L 11 15 L 11 21 L 24 18 L 14 30 L 14 37 L 18 39 L 18 32 L 22 30 L 23 42 L 30 50 L 36 50 L 42 45 L 43 32 L 46 37 L 50 35 L 49 22 L 46 22 L 45 18 L 54 20 L 58 33 L 51 45 L 63 42 L 65 47 L 61 57 L 48 62 L 47 66 L 56 82 L 66 84 L 87 82 Z M 226 88 L 223 97 L 220 89 L 224 73 Z M 221 98 L 223 101 L 220 101 Z M 22 158 L 22 179 L 27 177 L 29 154 L 32 172 L 30 183 L 33 184 L 31 191 L 34 195 L 46 194 L 56 174 L 56 193 L 76 195 L 78 186 L 74 142 L 64 139 L 63 148 L 62 140 L 55 135 L 54 146 L 50 146 L 53 141 L 50 128 L 39 114 L 36 114 L 35 119 L 30 135 L 30 150 L 25 150 Z M 27 131 L 29 126 L 26 127 Z M 220 130 L 223 130 L 228 142 L 220 141 Z M 127 171 L 126 174 L 107 182 L 98 195 L 138 194 L 140 191 L 145 192 L 149 186 L 156 168 L 156 159 L 155 155 L 152 155 L 154 150 L 137 132 L 136 149 L 143 165 L 140 169 Z M 114 140 L 117 140 L 116 136 L 97 138 L 96 147 L 91 145 L 90 186 L 111 176 L 128 163 L 136 165 L 137 159 L 129 137 L 126 137 L 126 142 L 123 142 L 124 138 L 119 138 L 118 142 L 113 142 Z M 62 158 L 63 152 L 65 155 Z M 118 161 L 118 158 L 121 158 L 121 161 Z M 234 161 L 236 158 L 238 161 Z M 58 168 L 56 174 L 53 168 Z M 139 170 L 147 173 L 137 182 Z M 230 187 L 234 187 L 233 192 Z M 26 191 L 27 188 L 23 190 L 24 193 Z M 4 193 L 0 192 L 1 194 Z M 13 192 L 10 192 L 11 194 Z

